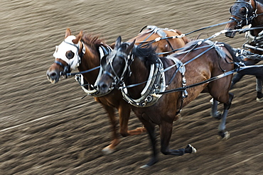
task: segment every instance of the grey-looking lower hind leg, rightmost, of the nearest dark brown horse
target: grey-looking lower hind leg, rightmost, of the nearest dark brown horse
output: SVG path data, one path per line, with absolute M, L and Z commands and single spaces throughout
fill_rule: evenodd
M 234 95 L 232 93 L 229 93 L 229 101 L 227 103 L 224 103 L 224 112 L 222 113 L 221 121 L 218 126 L 218 135 L 220 135 L 220 138 L 222 138 L 222 140 L 227 140 L 230 137 L 229 132 L 225 131 L 225 123 L 227 120 L 227 113 L 230 109 L 233 97 Z

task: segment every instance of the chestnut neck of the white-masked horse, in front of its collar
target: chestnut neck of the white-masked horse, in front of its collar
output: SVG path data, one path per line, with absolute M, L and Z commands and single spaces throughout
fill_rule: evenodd
M 98 66 L 100 66 L 100 52 L 85 45 L 85 54 L 81 58 L 79 71 L 87 71 Z M 95 69 L 83 74 L 83 77 L 89 84 L 95 84 L 99 71 L 100 69 Z

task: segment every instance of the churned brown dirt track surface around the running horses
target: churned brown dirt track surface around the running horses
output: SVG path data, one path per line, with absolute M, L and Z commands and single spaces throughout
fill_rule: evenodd
M 188 143 L 197 154 L 164 156 L 150 169 L 146 133 L 122 137 L 113 154 L 101 150 L 111 141 L 106 113 L 73 79 L 50 84 L 45 72 L 55 45 L 70 28 L 77 35 L 100 34 L 111 44 L 129 40 L 147 25 L 188 33 L 228 21 L 234 0 L 95 1 L 1 0 L 0 174 L 263 174 L 262 104 L 255 101 L 255 79 L 236 84 L 227 118 L 230 139 L 217 139 L 218 120 L 210 117 L 210 96 L 201 94 L 174 123 L 171 148 Z M 224 26 L 188 38 L 208 38 Z M 213 39 L 241 47 L 244 34 Z M 220 91 L 220 89 L 218 89 Z M 222 108 L 222 105 L 220 106 Z M 141 123 L 132 113 L 129 128 Z M 157 128 L 158 147 L 159 130 Z

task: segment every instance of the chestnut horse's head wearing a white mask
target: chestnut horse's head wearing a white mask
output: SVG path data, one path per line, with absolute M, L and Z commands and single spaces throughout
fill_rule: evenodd
M 82 31 L 77 36 L 71 35 L 70 29 L 65 31 L 65 40 L 55 47 L 53 57 L 55 62 L 51 64 L 47 71 L 48 80 L 55 84 L 61 77 L 67 77 L 67 73 L 77 69 L 80 65 L 80 55 L 85 48 L 80 42 Z M 82 47 L 82 52 L 80 51 Z M 85 50 L 85 49 L 84 49 Z

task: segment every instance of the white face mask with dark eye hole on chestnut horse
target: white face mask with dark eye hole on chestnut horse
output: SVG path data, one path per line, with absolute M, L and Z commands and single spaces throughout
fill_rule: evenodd
M 76 39 L 74 35 L 70 35 L 65 40 L 60 43 L 60 45 L 55 46 L 55 52 L 53 57 L 55 59 L 60 59 L 66 62 L 69 67 L 70 71 L 77 69 L 80 65 L 80 55 L 78 54 L 78 50 L 80 49 L 80 43 L 74 44 L 72 40 Z M 74 57 L 68 58 L 66 56 L 67 52 L 73 52 Z

